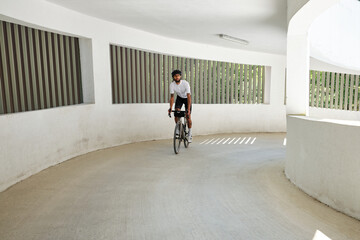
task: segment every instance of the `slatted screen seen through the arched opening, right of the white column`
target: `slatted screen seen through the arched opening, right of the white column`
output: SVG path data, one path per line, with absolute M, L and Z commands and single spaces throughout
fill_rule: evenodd
M 310 106 L 359 111 L 360 75 L 310 71 Z

